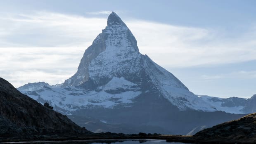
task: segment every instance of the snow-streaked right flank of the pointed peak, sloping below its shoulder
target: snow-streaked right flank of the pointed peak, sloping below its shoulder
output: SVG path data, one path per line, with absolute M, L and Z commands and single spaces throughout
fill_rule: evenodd
M 183 83 L 172 73 L 154 63 L 147 57 L 145 69 L 153 80 L 154 85 L 159 88 L 161 94 L 180 110 L 194 109 L 202 111 L 216 111 L 216 109 L 206 104 L 196 95 L 188 90 Z

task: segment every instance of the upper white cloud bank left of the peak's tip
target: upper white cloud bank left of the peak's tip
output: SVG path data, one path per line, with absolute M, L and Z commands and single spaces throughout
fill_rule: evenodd
M 49 12 L 3 15 L 0 47 L 88 46 L 106 21 Z

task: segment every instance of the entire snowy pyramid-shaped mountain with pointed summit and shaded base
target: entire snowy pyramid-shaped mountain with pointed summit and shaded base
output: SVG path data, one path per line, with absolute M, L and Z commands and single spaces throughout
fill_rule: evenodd
M 119 132 L 143 127 L 151 133 L 187 134 L 198 126 L 242 116 L 216 111 L 172 73 L 140 54 L 135 37 L 114 12 L 71 78 L 59 86 L 18 90 L 42 104 L 48 102 L 81 126 L 96 119 L 107 131 L 113 131 L 109 125 L 118 125 L 123 127 Z

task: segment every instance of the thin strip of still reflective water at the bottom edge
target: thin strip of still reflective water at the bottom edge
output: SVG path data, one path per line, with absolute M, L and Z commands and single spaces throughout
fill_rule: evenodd
M 116 140 L 80 140 L 64 142 L 17 142 L 12 144 L 184 144 L 181 142 L 166 142 L 159 139 L 116 139 Z

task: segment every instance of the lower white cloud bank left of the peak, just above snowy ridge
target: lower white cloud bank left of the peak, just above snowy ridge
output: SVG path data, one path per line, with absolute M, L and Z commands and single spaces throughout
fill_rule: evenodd
M 0 47 L 0 77 L 15 87 L 63 83 L 76 72 L 83 52 L 82 47 Z

